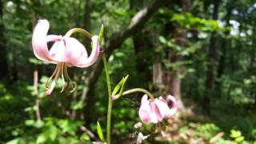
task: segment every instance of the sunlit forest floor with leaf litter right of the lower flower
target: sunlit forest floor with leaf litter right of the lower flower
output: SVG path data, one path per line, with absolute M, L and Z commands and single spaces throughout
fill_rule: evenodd
M 194 110 L 195 111 L 195 110 Z M 218 103 L 210 116 L 170 118 L 152 139 L 158 143 L 256 143 L 256 107 Z

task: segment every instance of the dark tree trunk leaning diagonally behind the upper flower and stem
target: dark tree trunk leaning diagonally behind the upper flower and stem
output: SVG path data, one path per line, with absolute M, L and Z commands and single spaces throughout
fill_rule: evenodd
M 115 49 L 118 49 L 122 42 L 129 38 L 136 30 L 143 26 L 147 22 L 147 20 L 157 11 L 166 0 L 156 0 L 151 3 L 149 6 L 144 7 L 142 10 L 139 10 L 137 14 L 130 20 L 130 23 L 126 28 L 118 31 L 110 36 L 110 39 L 106 40 L 106 47 L 104 49 L 104 53 L 107 55 L 107 58 L 110 58 L 110 54 L 113 53 Z M 86 75 L 86 89 L 83 90 L 82 97 L 85 98 L 90 94 L 90 90 L 94 89 L 94 86 L 98 80 L 98 77 L 102 73 L 103 62 L 100 61 L 96 65 L 94 65 L 90 72 Z

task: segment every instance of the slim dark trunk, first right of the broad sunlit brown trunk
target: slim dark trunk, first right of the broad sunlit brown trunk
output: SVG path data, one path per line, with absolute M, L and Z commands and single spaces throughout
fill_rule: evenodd
M 214 11 L 212 17 L 214 20 L 218 19 L 218 5 L 220 0 L 214 0 Z M 217 60 L 217 47 L 216 47 L 216 32 L 212 32 L 210 37 L 210 46 L 207 53 L 207 67 L 206 67 L 206 93 L 202 98 L 202 114 L 210 115 L 210 98 L 214 96 L 214 71 Z

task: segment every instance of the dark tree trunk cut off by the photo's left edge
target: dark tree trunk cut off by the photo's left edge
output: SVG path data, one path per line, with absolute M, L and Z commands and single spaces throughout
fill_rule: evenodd
M 3 2 L 0 0 L 0 79 L 6 78 L 7 72 L 8 72 L 8 67 L 7 67 L 7 57 L 6 57 L 6 47 L 5 47 L 5 38 L 3 35 L 4 31 L 4 26 L 3 26 L 3 21 L 2 21 L 2 10 L 3 9 Z

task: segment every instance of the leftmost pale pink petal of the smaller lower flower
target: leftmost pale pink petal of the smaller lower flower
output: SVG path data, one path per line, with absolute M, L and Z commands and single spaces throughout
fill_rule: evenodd
M 158 118 L 157 118 L 156 114 L 154 113 L 154 110 L 155 110 L 154 102 L 150 102 L 150 100 L 148 100 L 147 95 L 145 94 L 142 97 L 141 106 L 140 106 L 140 108 L 138 110 L 138 115 L 141 118 L 142 122 L 145 122 L 145 123 L 149 123 L 149 122 L 157 123 L 158 122 Z

